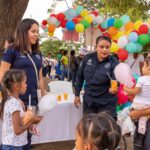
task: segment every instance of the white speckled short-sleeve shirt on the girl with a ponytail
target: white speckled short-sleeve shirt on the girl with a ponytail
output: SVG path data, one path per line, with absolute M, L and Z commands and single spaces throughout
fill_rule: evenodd
M 24 114 L 21 103 L 14 97 L 10 97 L 4 105 L 4 114 L 2 121 L 2 144 L 12 146 L 23 146 L 27 144 L 27 131 L 16 135 L 13 129 L 12 114 L 20 111 Z

